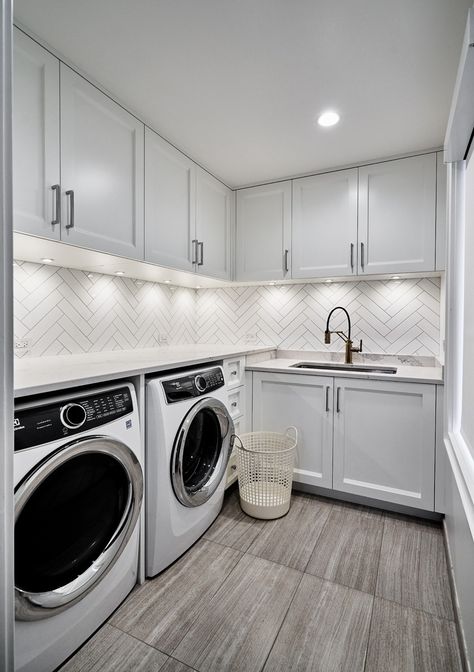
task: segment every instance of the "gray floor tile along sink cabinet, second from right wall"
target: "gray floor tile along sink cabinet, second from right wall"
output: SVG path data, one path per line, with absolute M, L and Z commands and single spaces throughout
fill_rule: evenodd
M 364 507 L 333 507 L 306 572 L 367 593 L 375 592 L 383 515 Z

